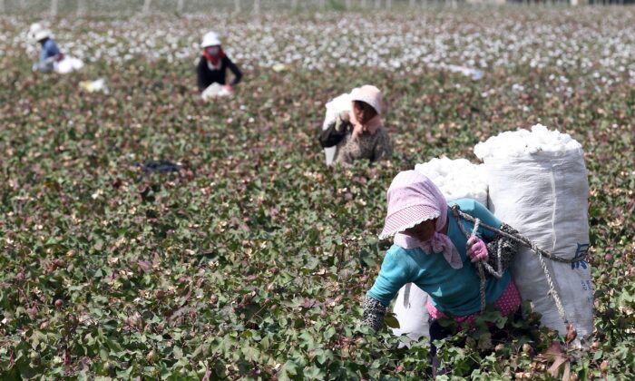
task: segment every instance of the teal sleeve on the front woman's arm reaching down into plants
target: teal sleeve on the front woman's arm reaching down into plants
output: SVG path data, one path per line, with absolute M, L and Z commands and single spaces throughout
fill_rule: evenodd
M 375 284 L 367 292 L 371 298 L 388 307 L 399 289 L 410 282 L 410 261 L 404 249 L 394 246 L 386 252 L 386 257 L 379 270 Z

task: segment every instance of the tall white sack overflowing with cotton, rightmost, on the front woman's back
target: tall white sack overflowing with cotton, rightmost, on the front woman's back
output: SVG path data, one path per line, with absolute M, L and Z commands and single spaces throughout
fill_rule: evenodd
M 474 153 L 484 161 L 490 210 L 496 217 L 558 257 L 586 254 L 589 184 L 580 143 L 537 125 L 532 132 L 503 132 L 479 143 Z M 580 343 L 593 329 L 591 267 L 586 261 L 545 261 Z M 513 260 L 512 274 L 523 299 L 531 299 L 542 314 L 542 324 L 565 334 L 538 256 L 521 249 Z

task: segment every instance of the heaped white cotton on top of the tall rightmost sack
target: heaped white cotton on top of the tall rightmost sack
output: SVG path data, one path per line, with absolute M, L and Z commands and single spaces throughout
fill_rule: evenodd
M 474 154 L 484 161 L 488 158 L 517 157 L 539 152 L 562 153 L 580 149 L 581 144 L 573 140 L 568 133 L 549 131 L 542 124 L 536 124 L 531 132 L 502 132 L 485 142 L 480 142 L 474 146 Z

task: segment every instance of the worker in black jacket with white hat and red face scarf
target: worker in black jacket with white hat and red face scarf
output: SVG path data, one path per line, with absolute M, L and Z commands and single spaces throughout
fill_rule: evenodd
M 240 82 L 242 73 L 236 64 L 231 62 L 220 46 L 219 35 L 209 32 L 203 36 L 203 42 L 200 44 L 203 48 L 203 55 L 200 57 L 197 66 L 199 91 L 203 92 L 212 83 L 219 83 L 224 86 L 228 93 L 233 92 L 233 85 Z M 234 74 L 234 79 L 230 84 L 226 80 L 227 69 Z

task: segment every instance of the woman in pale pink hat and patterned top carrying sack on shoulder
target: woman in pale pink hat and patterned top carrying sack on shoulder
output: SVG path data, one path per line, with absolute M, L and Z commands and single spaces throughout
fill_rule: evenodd
M 366 84 L 353 90 L 351 101 L 351 111 L 340 112 L 320 133 L 320 144 L 325 148 L 337 147 L 333 162 L 345 166 L 359 159 L 389 159 L 392 146 L 381 120 L 381 92 Z

